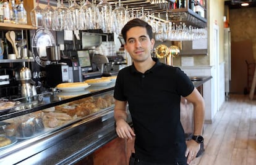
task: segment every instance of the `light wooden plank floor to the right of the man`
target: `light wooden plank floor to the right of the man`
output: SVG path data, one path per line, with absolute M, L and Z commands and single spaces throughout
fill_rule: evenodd
M 212 124 L 205 124 L 205 152 L 190 164 L 255 165 L 256 100 L 229 95 Z

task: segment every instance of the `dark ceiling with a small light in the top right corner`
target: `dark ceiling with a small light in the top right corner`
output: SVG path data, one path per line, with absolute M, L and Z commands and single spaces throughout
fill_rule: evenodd
M 242 2 L 248 2 L 249 6 L 241 6 Z M 229 9 L 244 9 L 248 7 L 256 7 L 256 0 L 228 0 L 225 1 L 224 4 L 229 6 Z

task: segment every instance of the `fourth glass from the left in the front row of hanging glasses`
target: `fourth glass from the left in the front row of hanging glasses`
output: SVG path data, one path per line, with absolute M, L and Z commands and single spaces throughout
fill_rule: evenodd
M 83 30 L 83 15 L 80 12 L 80 8 L 81 7 L 75 0 L 69 7 L 69 18 L 72 30 Z

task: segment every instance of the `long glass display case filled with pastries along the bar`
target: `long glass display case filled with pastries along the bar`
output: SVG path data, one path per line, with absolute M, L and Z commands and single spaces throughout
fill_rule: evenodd
M 23 154 L 23 158 L 12 159 L 12 156 L 22 150 L 31 147 L 29 150 L 32 153 L 27 153 L 27 157 L 35 155 L 38 152 L 36 150 L 39 149 L 38 146 L 32 149 L 33 145 L 40 144 L 40 150 L 44 150 L 68 135 L 74 134 L 72 132 L 77 132 L 76 127 L 83 127 L 95 120 L 103 122 L 112 118 L 113 85 L 105 86 L 105 89 L 99 88 L 99 90 L 95 90 L 95 87 L 90 89 L 90 84 L 87 82 L 79 86 L 84 87 L 85 84 L 88 90 L 82 89 L 82 93 L 81 91 L 67 92 L 77 93 L 77 95 L 59 97 L 59 94 L 65 91 L 46 92 L 29 98 L 17 99 L 15 103 L 10 101 L 10 105 L 12 103 L 12 107 L 8 107 L 10 111 L 4 111 L 5 109 L 2 108 L 4 113 L 0 114 L 0 164 L 6 161 L 15 164 L 26 159 L 26 154 Z M 6 104 L 9 105 L 9 103 Z M 49 139 L 54 140 L 48 142 Z M 28 142 L 33 142 L 33 145 Z

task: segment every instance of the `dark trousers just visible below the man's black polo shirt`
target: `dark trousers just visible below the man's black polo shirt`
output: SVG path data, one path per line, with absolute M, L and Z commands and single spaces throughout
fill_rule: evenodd
M 150 163 L 147 161 L 143 161 L 139 158 L 136 158 L 135 154 L 132 153 L 130 156 L 129 165 L 187 165 L 186 162 L 177 162 L 177 163 Z

